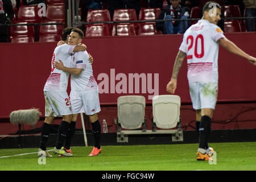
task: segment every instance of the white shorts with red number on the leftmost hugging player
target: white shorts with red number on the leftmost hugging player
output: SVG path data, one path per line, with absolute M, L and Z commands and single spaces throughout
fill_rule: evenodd
M 62 117 L 72 114 L 67 91 L 44 91 L 45 116 Z

